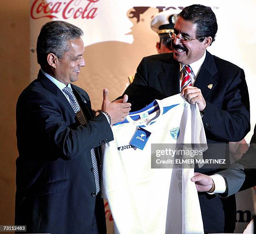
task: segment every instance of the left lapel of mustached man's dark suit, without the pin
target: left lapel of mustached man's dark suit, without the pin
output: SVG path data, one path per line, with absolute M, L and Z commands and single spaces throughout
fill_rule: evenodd
M 169 97 L 179 93 L 179 63 L 163 63 L 163 71 L 158 78 L 164 96 Z

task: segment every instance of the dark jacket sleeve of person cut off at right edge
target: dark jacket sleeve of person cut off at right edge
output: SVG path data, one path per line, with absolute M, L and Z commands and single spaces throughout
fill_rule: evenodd
M 230 196 L 256 185 L 256 126 L 246 153 L 228 169 L 219 171 L 218 174 L 224 176 L 228 185 L 227 193 L 219 196 Z

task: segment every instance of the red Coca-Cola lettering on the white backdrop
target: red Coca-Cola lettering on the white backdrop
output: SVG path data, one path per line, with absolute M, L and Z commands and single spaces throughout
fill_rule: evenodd
M 56 18 L 54 14 L 61 12 L 63 19 L 81 18 L 93 19 L 97 15 L 94 5 L 100 0 L 67 0 L 53 3 L 45 0 L 34 0 L 31 5 L 30 15 L 32 19 Z

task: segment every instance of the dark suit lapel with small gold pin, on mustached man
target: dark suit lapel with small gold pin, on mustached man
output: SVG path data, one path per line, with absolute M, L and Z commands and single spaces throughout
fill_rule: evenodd
M 206 98 L 215 88 L 218 81 L 214 75 L 218 73 L 213 56 L 206 51 L 205 61 L 197 75 L 194 86 L 201 89 L 202 96 Z

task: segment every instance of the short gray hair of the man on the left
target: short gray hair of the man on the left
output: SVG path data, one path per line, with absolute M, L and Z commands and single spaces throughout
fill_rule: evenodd
M 64 21 L 51 21 L 42 26 L 37 38 L 37 62 L 42 66 L 46 63 L 49 53 L 62 58 L 69 50 L 68 41 L 80 38 L 82 29 Z

